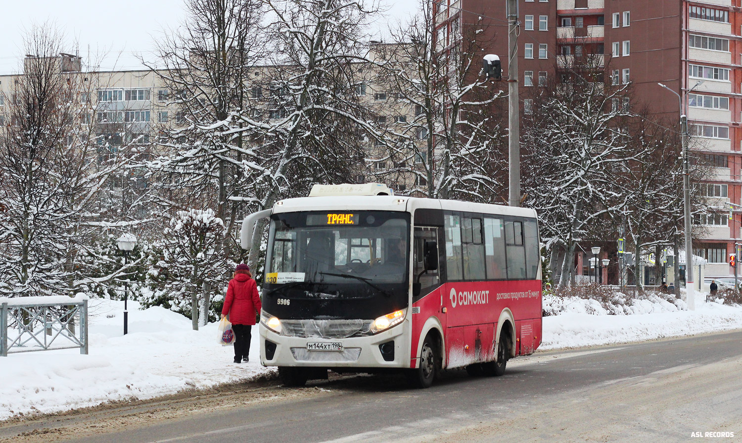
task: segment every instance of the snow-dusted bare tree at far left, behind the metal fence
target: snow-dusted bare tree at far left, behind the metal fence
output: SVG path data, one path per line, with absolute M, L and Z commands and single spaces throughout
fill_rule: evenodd
M 22 74 L 4 97 L 0 128 L 0 292 L 73 293 L 96 271 L 80 266 L 101 221 L 99 198 L 124 165 L 102 159 L 92 137 L 90 86 L 79 57 L 62 53 L 63 37 L 33 27 Z

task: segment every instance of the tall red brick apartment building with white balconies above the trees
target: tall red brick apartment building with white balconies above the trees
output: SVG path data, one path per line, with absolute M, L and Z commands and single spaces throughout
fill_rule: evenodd
M 436 0 L 437 47 L 455 47 L 468 25 L 488 25 L 484 41 L 507 76 L 505 4 Z M 704 189 L 709 206 L 719 208 L 718 217 L 695 220 L 706 234 L 694 249 L 709 260 L 706 275 L 732 274 L 726 261 L 742 242 L 742 206 L 734 206 L 732 220 L 726 216 L 730 203 L 742 205 L 742 0 L 519 0 L 519 20 L 522 94 L 528 85 L 538 88 L 539 77 L 558 75 L 554 71 L 583 50 L 608 64 L 613 81 L 631 82 L 636 99 L 660 117 L 677 121 L 680 109 L 677 96 L 657 83 L 683 91 L 691 148 L 709 160 Z

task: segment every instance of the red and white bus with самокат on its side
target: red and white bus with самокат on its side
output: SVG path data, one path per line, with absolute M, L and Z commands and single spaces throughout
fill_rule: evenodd
M 301 386 L 327 370 L 502 375 L 541 341 L 536 212 L 401 197 L 386 186 L 315 186 L 243 223 L 270 220 L 260 362 Z

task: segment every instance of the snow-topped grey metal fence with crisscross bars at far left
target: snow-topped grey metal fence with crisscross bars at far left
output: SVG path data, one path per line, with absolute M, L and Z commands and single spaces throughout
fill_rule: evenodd
M 0 298 L 0 356 L 76 347 L 88 353 L 87 297 Z

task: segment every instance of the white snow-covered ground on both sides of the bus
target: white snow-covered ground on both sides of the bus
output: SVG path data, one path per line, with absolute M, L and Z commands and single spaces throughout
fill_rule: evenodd
M 641 301 L 631 315 L 605 315 L 600 304 L 571 299 L 560 315 L 544 318 L 540 349 L 642 341 L 742 328 L 742 308 L 704 303 L 694 312 L 672 303 Z M 0 358 L 0 420 L 52 413 L 105 401 L 153 398 L 188 388 L 247 381 L 260 366 L 257 326 L 247 364 L 232 363 L 232 347 L 217 344 L 217 324 L 191 330 L 191 321 L 162 308 L 129 302 L 129 333 L 122 335 L 122 302 L 92 300 L 90 354 L 53 350 Z M 682 303 L 681 306 L 683 307 Z M 590 312 L 590 313 L 588 313 Z

